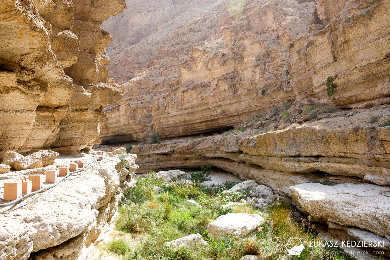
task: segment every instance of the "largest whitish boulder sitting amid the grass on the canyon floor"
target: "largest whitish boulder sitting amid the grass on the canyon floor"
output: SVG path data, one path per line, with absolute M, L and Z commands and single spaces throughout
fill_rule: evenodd
M 242 236 L 256 230 L 262 223 L 264 218 L 259 214 L 229 213 L 207 225 L 207 232 L 213 238 L 220 235 Z

